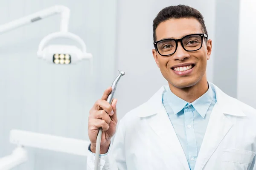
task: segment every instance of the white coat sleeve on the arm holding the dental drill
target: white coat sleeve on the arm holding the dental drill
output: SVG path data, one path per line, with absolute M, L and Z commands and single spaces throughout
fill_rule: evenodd
M 87 170 L 94 170 L 95 154 L 88 149 Z M 116 136 L 109 147 L 108 153 L 99 157 L 99 170 L 127 170 L 125 160 L 125 125 L 121 119 Z

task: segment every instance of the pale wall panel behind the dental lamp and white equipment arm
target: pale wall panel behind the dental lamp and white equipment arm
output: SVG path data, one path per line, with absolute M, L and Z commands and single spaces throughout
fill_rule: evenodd
M 61 67 L 37 59 L 41 39 L 59 31 L 59 16 L 0 35 L 0 157 L 15 148 L 13 128 L 88 140 L 89 109 L 116 76 L 116 0 L 1 0 L 0 24 L 56 4 L 70 8 L 70 32 L 93 54 L 94 76 L 86 60 Z M 86 157 L 28 150 L 29 161 L 15 170 L 86 169 Z

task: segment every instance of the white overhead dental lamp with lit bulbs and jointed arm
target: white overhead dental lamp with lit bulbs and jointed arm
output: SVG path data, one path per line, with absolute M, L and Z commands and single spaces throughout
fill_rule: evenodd
M 59 65 L 75 64 L 81 59 L 90 59 L 92 68 L 92 54 L 86 52 L 86 45 L 84 41 L 77 35 L 68 32 L 68 25 L 70 19 L 70 9 L 66 6 L 52 6 L 50 8 L 38 11 L 34 14 L 14 20 L 0 26 L 0 34 L 12 29 L 24 26 L 29 23 L 34 23 L 54 14 L 61 15 L 60 31 L 47 35 L 39 43 L 37 56 L 47 62 Z M 68 38 L 74 40 L 81 45 L 81 49 L 75 45 L 48 45 L 51 40 L 57 38 Z

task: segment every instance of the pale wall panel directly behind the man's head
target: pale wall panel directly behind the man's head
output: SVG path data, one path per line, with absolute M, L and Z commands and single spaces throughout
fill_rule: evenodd
M 162 85 L 167 85 L 154 62 L 152 23 L 166 6 L 185 4 L 198 9 L 204 16 L 213 52 L 207 66 L 207 77 L 213 81 L 215 50 L 215 0 L 122 0 L 118 1 L 117 65 L 126 72 L 116 91 L 118 116 L 149 99 Z

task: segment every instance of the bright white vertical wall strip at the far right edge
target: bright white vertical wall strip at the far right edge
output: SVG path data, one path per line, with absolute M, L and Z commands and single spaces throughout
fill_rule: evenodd
M 256 1 L 240 1 L 238 99 L 256 108 Z

